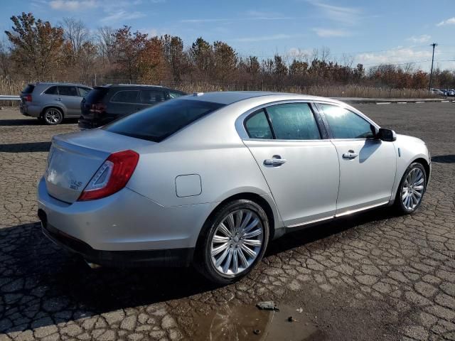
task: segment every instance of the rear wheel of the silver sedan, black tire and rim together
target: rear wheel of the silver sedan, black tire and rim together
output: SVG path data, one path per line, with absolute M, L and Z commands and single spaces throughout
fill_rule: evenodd
M 214 283 L 233 283 L 262 259 L 268 242 L 269 220 L 262 207 L 252 200 L 233 200 L 218 207 L 205 222 L 194 265 Z

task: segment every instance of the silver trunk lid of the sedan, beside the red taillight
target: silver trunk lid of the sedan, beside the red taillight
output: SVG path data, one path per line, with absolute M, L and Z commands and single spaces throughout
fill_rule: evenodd
M 98 168 L 116 151 L 138 151 L 153 142 L 101 129 L 54 136 L 44 177 L 49 195 L 75 202 Z

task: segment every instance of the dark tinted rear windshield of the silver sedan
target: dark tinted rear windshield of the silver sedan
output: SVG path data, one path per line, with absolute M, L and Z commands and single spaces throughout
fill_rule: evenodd
M 116 134 L 159 142 L 225 104 L 173 99 L 114 121 L 102 129 Z

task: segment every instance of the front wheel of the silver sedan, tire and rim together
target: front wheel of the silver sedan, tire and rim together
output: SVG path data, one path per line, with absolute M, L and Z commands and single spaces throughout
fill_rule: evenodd
M 412 163 L 403 175 L 395 197 L 395 208 L 405 215 L 414 213 L 427 190 L 427 172 L 422 163 Z M 417 201 L 416 201 L 417 200 Z

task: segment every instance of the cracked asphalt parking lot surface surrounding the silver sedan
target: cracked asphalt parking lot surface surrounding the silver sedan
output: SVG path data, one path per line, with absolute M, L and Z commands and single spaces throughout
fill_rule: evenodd
M 289 234 L 223 288 L 192 269 L 91 270 L 50 243 L 36 183 L 51 136 L 77 125 L 0 111 L 0 341 L 204 340 L 211 316 L 261 300 L 301 308 L 289 328 L 318 330 L 304 340 L 455 340 L 455 104 L 356 107 L 427 141 L 433 173 L 419 211 L 375 210 Z

